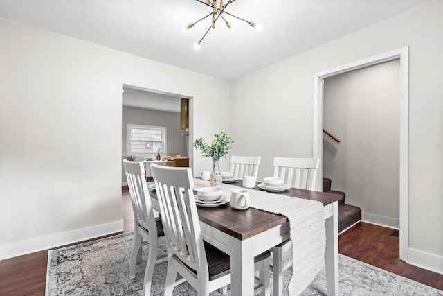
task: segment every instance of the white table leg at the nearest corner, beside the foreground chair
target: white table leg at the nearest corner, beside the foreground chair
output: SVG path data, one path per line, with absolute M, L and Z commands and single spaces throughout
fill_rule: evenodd
M 237 240 L 230 255 L 230 292 L 231 295 L 253 295 L 254 291 L 254 254 L 253 246 Z

